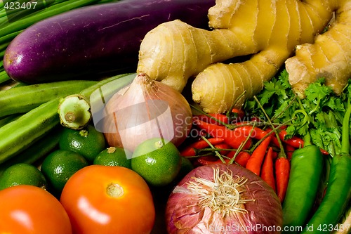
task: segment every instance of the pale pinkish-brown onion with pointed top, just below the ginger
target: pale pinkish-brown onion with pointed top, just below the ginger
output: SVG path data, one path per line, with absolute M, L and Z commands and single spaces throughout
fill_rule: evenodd
M 192 126 L 192 112 L 183 95 L 166 84 L 138 74 L 106 105 L 104 133 L 110 146 L 133 151 L 143 141 L 161 137 L 176 146 Z

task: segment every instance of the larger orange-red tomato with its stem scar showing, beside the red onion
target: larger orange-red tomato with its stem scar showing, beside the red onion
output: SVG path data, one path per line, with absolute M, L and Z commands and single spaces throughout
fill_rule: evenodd
M 125 167 L 91 165 L 67 181 L 60 201 L 76 234 L 151 233 L 155 209 L 144 179 Z

